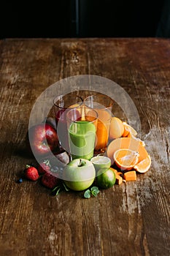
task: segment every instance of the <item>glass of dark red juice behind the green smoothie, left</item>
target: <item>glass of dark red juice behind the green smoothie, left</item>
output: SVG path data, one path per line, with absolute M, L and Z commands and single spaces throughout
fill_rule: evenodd
M 76 92 L 71 92 L 65 95 L 59 95 L 53 100 L 54 112 L 55 112 L 55 122 L 57 126 L 58 140 L 61 150 L 69 152 L 69 138 L 66 123 L 66 113 L 69 110 L 77 110 L 81 112 L 82 108 L 82 98 L 76 94 Z

